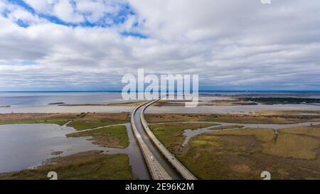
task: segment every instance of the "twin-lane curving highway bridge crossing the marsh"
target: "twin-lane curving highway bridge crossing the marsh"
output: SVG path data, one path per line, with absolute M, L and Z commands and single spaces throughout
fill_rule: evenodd
M 186 179 L 195 176 L 173 156 L 154 136 L 144 119 L 144 109 L 159 99 L 140 105 L 132 112 L 132 130 L 144 155 L 151 177 L 156 180 Z

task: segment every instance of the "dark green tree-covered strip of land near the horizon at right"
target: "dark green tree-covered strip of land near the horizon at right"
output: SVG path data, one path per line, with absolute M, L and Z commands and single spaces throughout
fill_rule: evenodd
M 302 104 L 302 103 L 320 103 L 319 98 L 301 98 L 301 97 L 242 97 L 242 101 L 262 102 L 264 104 Z

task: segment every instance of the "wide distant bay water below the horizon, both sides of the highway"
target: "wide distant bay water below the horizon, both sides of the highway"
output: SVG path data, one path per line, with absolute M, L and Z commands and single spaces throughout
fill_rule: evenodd
M 319 93 L 308 92 L 273 92 L 274 95 L 292 95 L 303 97 L 320 97 Z M 261 95 L 270 95 L 271 92 L 260 92 Z M 201 96 L 200 104 L 206 104 L 213 99 L 230 99 L 233 95 L 253 95 L 258 92 L 206 92 L 210 96 Z M 227 97 L 221 97 L 226 95 Z M 55 104 L 110 104 L 130 102 L 122 99 L 120 92 L 31 92 L 31 93 L 4 93 L 0 92 L 0 106 L 10 105 L 11 107 L 0 107 L 1 113 L 55 113 L 55 112 L 131 112 L 134 107 L 61 107 Z M 149 107 L 146 113 L 238 113 L 256 112 L 262 110 L 282 109 L 314 109 L 319 110 L 320 106 L 308 104 L 274 104 L 274 105 L 249 105 L 229 107 Z

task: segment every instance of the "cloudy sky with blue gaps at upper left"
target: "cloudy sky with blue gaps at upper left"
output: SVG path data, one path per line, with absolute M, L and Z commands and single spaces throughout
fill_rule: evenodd
M 198 74 L 201 90 L 320 90 L 320 1 L 0 0 L 0 91 L 121 90 Z

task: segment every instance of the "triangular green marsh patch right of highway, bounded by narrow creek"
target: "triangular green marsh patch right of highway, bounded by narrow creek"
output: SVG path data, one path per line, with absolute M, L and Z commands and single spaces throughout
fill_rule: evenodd
M 156 137 L 166 146 L 169 151 L 174 152 L 181 148 L 185 139 L 183 131 L 186 129 L 200 129 L 208 126 L 215 126 L 216 124 L 159 124 L 149 125 L 149 128 L 154 132 Z

